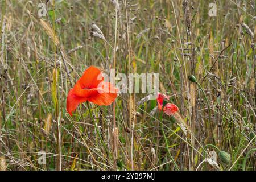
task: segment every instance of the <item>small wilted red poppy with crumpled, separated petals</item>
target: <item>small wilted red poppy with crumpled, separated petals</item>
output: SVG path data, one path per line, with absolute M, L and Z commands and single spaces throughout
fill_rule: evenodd
M 166 115 L 174 115 L 177 111 L 179 111 L 179 108 L 175 104 L 167 103 L 163 107 L 163 101 L 169 100 L 170 96 L 166 96 L 165 94 L 159 93 L 158 98 L 156 99 L 158 101 L 158 109 L 162 110 Z

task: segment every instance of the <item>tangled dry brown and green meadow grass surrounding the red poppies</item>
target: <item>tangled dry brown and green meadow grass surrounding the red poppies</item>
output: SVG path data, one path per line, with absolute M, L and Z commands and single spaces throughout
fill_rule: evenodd
M 256 169 L 254 0 L 40 3 L 1 0 L 0 170 Z M 121 93 L 71 117 L 91 65 L 159 73 L 179 111 Z

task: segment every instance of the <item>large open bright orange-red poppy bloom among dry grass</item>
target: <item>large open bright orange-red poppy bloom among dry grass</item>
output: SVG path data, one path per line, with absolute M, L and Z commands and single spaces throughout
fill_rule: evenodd
M 110 105 L 117 98 L 118 89 L 110 82 L 104 82 L 100 69 L 89 67 L 75 86 L 69 90 L 67 98 L 67 111 L 72 112 L 82 102 L 93 102 L 97 105 Z

